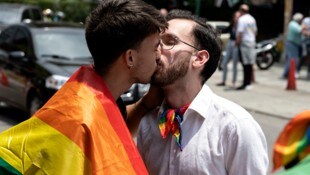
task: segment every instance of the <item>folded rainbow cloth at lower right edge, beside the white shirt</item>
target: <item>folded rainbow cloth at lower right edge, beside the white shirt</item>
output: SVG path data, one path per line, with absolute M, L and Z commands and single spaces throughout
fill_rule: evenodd
M 310 153 L 310 110 L 303 111 L 285 126 L 274 144 L 273 170 L 299 162 Z

